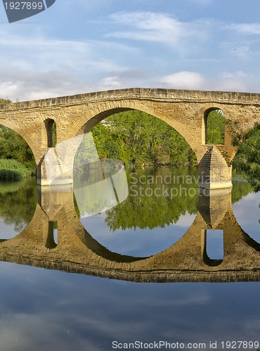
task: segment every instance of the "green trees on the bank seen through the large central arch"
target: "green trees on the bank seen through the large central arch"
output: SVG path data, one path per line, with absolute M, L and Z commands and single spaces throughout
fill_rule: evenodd
M 92 129 L 98 155 L 135 166 L 192 166 L 186 140 L 164 121 L 133 110 L 114 114 Z

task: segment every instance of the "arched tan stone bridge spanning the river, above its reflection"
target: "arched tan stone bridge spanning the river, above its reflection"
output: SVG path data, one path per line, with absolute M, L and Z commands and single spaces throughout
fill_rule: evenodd
M 222 110 L 229 122 L 225 143 L 208 145 L 207 115 L 216 109 Z M 53 184 L 53 178 L 56 184 L 65 184 L 73 181 L 74 154 L 81 142 L 74 137 L 91 131 L 111 114 L 127 110 L 148 112 L 175 128 L 196 154 L 199 185 L 223 188 L 232 186 L 230 162 L 236 153 L 232 133 L 246 133 L 260 124 L 260 94 L 129 88 L 1 105 L 0 124 L 19 133 L 30 145 L 39 185 Z M 54 122 L 58 147 L 52 145 Z M 54 175 L 51 181 L 47 167 Z

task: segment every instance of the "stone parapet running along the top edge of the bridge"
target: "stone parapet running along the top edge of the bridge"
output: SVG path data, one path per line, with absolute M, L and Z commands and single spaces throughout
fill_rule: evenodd
M 233 91 L 200 91 L 165 88 L 125 88 L 110 91 L 98 91 L 77 95 L 60 96 L 40 100 L 1 104 L 0 110 L 28 110 L 37 107 L 58 107 L 122 99 L 151 99 L 168 102 L 219 102 L 230 105 L 254 105 L 260 108 L 260 93 L 241 93 Z

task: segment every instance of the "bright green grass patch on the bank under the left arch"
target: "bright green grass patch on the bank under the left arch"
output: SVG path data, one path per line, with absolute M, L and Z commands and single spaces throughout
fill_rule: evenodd
M 0 179 L 20 179 L 30 177 L 32 171 L 15 159 L 0 159 Z

